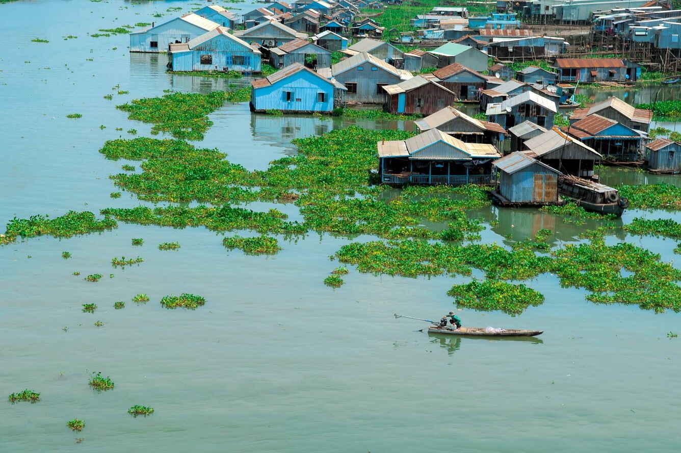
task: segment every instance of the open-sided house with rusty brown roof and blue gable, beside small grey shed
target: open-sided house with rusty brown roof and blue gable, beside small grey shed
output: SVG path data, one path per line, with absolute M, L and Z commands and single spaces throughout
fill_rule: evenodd
M 642 133 L 597 113 L 575 121 L 563 131 L 582 140 L 607 160 L 633 162 L 641 158 Z

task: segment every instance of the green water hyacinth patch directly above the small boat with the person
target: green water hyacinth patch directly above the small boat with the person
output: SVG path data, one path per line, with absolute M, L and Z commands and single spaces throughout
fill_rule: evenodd
M 520 315 L 527 307 L 537 307 L 544 302 L 541 293 L 525 285 L 512 285 L 498 280 L 454 285 L 447 294 L 456 298 L 457 307 L 481 311 L 501 310 L 511 316 Z

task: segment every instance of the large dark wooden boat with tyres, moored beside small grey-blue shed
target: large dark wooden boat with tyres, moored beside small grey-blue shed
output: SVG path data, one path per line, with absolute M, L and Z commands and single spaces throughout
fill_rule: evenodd
M 617 189 L 577 176 L 558 176 L 558 191 L 592 213 L 620 217 L 629 207 L 629 200 L 620 197 Z

